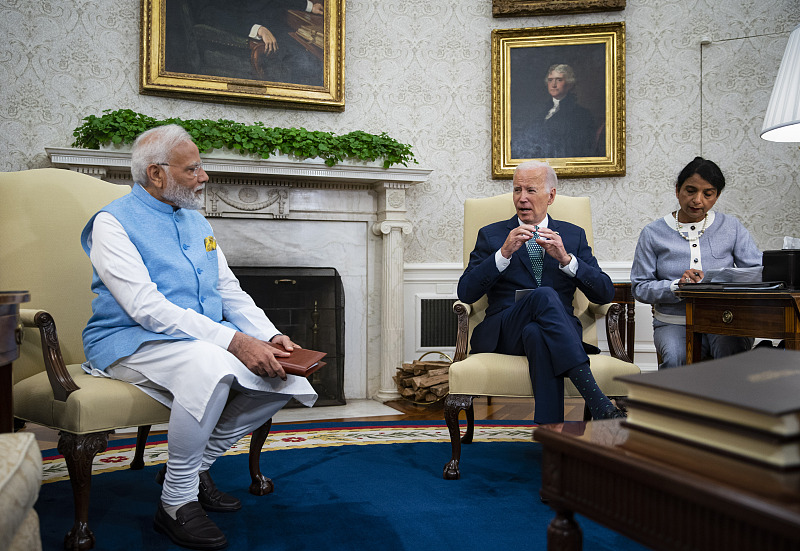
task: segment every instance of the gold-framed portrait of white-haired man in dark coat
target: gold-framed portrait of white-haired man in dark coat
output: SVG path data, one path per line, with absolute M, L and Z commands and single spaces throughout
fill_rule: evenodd
M 492 31 L 492 177 L 625 174 L 625 23 Z

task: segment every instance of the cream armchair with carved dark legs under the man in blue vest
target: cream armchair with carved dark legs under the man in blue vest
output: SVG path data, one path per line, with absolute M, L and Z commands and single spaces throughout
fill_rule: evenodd
M 135 386 L 93 377 L 80 365 L 85 361 L 81 331 L 94 296 L 80 233 L 94 213 L 129 191 L 69 170 L 0 173 L 0 289 L 31 295 L 29 308 L 20 311 L 25 330 L 14 362 L 14 417 L 59 431 L 58 451 L 69 469 L 75 503 L 67 549 L 94 547 L 92 460 L 106 449 L 109 433 L 138 427 L 131 469 L 141 469 L 150 426 L 169 420 L 169 409 Z M 250 492 L 256 495 L 273 489 L 259 468 L 270 425 L 268 420 L 251 440 Z

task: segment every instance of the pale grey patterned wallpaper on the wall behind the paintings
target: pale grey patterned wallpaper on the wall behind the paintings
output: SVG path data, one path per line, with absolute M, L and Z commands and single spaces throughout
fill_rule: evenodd
M 621 12 L 494 19 L 490 0 L 347 0 L 346 109 L 279 110 L 138 93 L 139 0 L 0 0 L 0 170 L 48 166 L 80 119 L 127 107 L 152 116 L 229 118 L 413 145 L 430 180 L 410 193 L 405 261 L 458 263 L 462 204 L 503 193 L 491 178 L 495 28 L 625 21 L 627 175 L 570 179 L 588 195 L 601 262 L 630 262 L 640 229 L 676 205 L 673 182 L 695 155 L 728 178 L 719 210 L 764 248 L 800 234 L 797 144 L 758 137 L 796 0 L 628 0 Z M 701 45 L 707 41 L 707 45 Z

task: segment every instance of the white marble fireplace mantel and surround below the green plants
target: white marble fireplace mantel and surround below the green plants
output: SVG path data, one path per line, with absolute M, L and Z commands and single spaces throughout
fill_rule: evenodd
M 46 151 L 53 166 L 131 184 L 127 151 Z M 402 234 L 412 230 L 406 190 L 431 171 L 235 153 L 202 157 L 210 178 L 205 215 L 229 263 L 337 268 L 345 289 L 345 396 L 397 398 L 392 376 L 403 361 Z

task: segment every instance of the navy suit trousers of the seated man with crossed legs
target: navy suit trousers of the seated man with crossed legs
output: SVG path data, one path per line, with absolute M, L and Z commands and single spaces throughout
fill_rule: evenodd
M 589 364 L 574 318 L 550 287 L 539 287 L 498 315 L 502 319 L 496 351 L 528 358 L 534 421 L 564 421 L 564 375 Z

